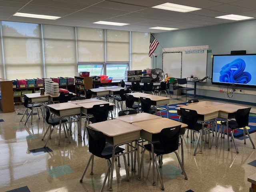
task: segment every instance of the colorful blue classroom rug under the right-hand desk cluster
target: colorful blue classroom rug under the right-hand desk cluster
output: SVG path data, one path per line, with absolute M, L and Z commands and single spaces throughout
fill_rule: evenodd
M 175 108 L 185 106 L 186 104 L 187 103 L 179 103 L 179 104 L 169 105 L 169 118 L 178 121 L 179 116 L 177 115 L 177 110 Z M 157 115 L 162 115 L 163 117 L 167 116 L 166 107 L 164 107 L 164 106 L 158 107 L 158 110 L 160 110 L 161 113 L 157 112 Z M 217 123 L 220 123 L 219 119 L 217 119 Z M 220 127 L 220 125 L 218 125 L 218 128 L 219 127 Z M 246 128 L 248 129 L 249 133 L 256 132 L 256 114 L 250 113 L 249 124 Z M 226 130 L 225 130 L 225 133 L 226 133 Z M 230 130 L 229 130 L 229 133 L 230 133 Z M 234 130 L 234 137 L 238 138 L 238 137 L 242 137 L 243 135 L 244 135 L 243 129 Z

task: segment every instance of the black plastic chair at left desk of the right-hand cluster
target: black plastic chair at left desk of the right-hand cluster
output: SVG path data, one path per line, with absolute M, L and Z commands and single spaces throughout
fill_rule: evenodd
M 196 148 L 194 151 L 194 155 L 196 155 L 196 150 L 198 148 L 198 143 L 200 141 L 200 138 L 202 136 L 202 132 L 204 131 L 204 125 L 201 123 L 198 123 L 198 113 L 195 110 L 190 110 L 190 109 L 184 109 L 184 108 L 180 108 L 180 112 L 181 112 L 181 122 L 184 124 L 187 124 L 187 129 L 190 130 L 190 142 L 192 143 L 192 140 L 194 140 L 194 132 L 198 132 L 198 140 L 196 142 Z M 205 129 L 208 129 L 207 127 L 205 127 Z M 192 137 L 192 133 L 193 133 L 193 137 Z M 210 130 L 208 130 L 208 136 L 210 138 Z M 210 141 L 210 139 L 209 139 Z M 210 142 L 210 148 L 211 148 L 211 142 Z

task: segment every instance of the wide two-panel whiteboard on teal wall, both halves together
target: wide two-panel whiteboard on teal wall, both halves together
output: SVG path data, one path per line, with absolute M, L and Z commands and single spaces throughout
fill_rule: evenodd
M 194 75 L 198 79 L 204 78 L 206 76 L 207 50 L 194 52 L 163 53 L 164 73 L 175 78 L 187 78 L 190 75 Z

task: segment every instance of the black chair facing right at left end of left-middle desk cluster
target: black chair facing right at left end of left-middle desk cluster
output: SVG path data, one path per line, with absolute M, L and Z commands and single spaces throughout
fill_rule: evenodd
M 44 147 L 46 147 L 46 144 L 47 144 L 47 142 L 48 142 L 48 140 L 51 138 L 51 135 L 52 135 L 52 132 L 53 132 L 53 130 L 54 130 L 54 127 L 56 126 L 56 125 L 60 125 L 60 120 L 61 120 L 61 124 L 64 124 L 64 132 L 65 132 L 65 137 L 68 137 L 68 140 L 69 140 L 69 143 L 70 143 L 70 137 L 69 137 L 69 134 L 68 134 L 68 126 L 67 126 L 67 122 L 68 122 L 68 120 L 66 119 L 66 118 L 60 118 L 60 117 L 58 117 L 58 118 L 50 118 L 50 110 L 48 109 L 48 107 L 47 106 L 44 106 L 44 108 L 45 108 L 45 111 L 46 111 L 46 118 L 45 118 L 45 120 L 46 120 L 46 122 L 49 124 L 49 126 L 48 126 L 48 128 L 46 129 L 46 132 L 44 133 L 44 136 L 43 136 L 43 138 L 42 138 L 42 141 L 44 140 L 44 137 L 46 136 L 46 134 L 47 134 L 47 132 L 48 132 L 48 130 L 50 129 L 50 134 L 49 134 L 49 136 L 48 136 L 48 138 L 47 138 L 47 140 L 46 140 L 46 142 L 45 142 L 45 144 L 44 144 Z M 65 130 L 65 128 L 66 128 L 66 130 Z M 66 133 L 67 132 L 67 133 Z M 68 136 L 67 136 L 68 135 Z M 60 130 L 59 130 L 59 138 L 60 138 Z M 60 146 L 60 140 L 59 140 L 59 144 L 58 144 L 58 146 Z

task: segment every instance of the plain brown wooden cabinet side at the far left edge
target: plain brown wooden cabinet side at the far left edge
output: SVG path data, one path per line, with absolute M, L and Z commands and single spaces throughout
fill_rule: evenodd
M 0 79 L 0 109 L 4 113 L 14 112 L 12 81 Z

